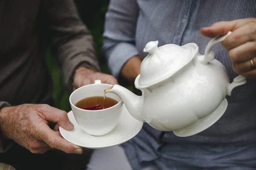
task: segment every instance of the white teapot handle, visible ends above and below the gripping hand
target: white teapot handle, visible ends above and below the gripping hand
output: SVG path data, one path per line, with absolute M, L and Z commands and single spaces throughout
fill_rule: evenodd
M 213 51 L 211 51 L 211 48 L 213 45 L 215 45 L 218 42 L 221 42 L 223 40 L 225 40 L 230 34 L 232 33 L 232 31 L 229 31 L 226 35 L 224 36 L 218 36 L 213 38 L 206 46 L 205 48 L 205 52 L 204 52 L 204 56 L 202 56 L 199 60 L 199 62 L 203 65 L 207 65 L 209 62 L 211 62 L 212 60 L 215 59 L 215 54 Z M 246 77 L 239 75 L 238 77 L 234 78 L 233 82 L 230 83 L 227 87 L 227 95 L 230 96 L 231 95 L 231 91 L 233 90 L 233 88 L 239 86 L 239 85 L 243 85 L 246 83 Z

